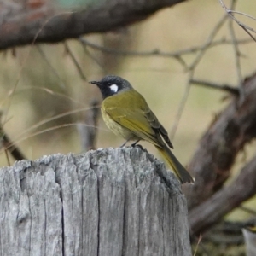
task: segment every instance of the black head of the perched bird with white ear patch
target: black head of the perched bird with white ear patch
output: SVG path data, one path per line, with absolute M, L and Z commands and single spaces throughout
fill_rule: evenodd
M 125 90 L 133 89 L 131 84 L 118 76 L 108 75 L 101 81 L 91 81 L 90 84 L 96 84 L 102 91 L 103 99 L 123 92 Z

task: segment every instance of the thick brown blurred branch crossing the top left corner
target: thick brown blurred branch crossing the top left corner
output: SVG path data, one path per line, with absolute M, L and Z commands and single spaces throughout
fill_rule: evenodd
M 38 6 L 26 3 L 22 6 L 21 1 L 15 4 L 4 1 L 0 12 L 0 49 L 32 44 L 34 41 L 56 43 L 88 33 L 116 30 L 184 1 L 109 0 L 98 6 L 62 14 L 46 3 Z

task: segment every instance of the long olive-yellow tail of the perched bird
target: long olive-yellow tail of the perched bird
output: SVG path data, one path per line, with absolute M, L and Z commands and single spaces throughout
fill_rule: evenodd
M 195 178 L 189 174 L 167 146 L 164 148 L 155 146 L 155 148 L 158 149 L 163 159 L 166 160 L 167 164 L 172 168 L 173 172 L 175 172 L 181 183 L 194 183 Z

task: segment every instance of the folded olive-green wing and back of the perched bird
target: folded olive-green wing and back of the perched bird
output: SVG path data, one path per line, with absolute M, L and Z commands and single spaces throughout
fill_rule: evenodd
M 137 137 L 162 148 L 163 140 L 160 133 L 165 138 L 166 130 L 160 125 L 154 113 L 148 107 L 136 90 L 124 93 L 125 96 L 112 96 L 105 99 L 102 108 L 113 121 L 133 132 Z M 113 98 L 114 97 L 114 98 Z M 136 99 L 136 100 L 134 100 Z M 171 144 L 172 145 L 172 144 Z

